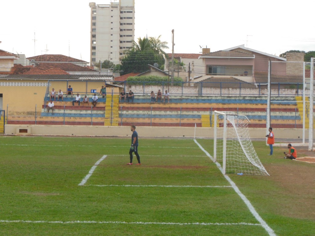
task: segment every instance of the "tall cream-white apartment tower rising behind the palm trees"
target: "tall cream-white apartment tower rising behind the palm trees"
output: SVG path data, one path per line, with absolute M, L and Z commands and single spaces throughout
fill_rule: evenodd
M 135 39 L 135 0 L 110 4 L 89 3 L 91 8 L 90 63 L 109 60 L 120 64 Z

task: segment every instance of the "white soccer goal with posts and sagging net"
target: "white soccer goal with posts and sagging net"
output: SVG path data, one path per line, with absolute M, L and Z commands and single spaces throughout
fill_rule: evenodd
M 269 175 L 249 137 L 247 117 L 230 111 L 214 114 L 214 161 L 222 164 L 223 174 Z

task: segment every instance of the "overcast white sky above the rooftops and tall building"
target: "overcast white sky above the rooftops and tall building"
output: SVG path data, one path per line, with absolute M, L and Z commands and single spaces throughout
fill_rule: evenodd
M 0 49 L 26 57 L 48 49 L 47 54 L 89 62 L 89 2 L 0 0 Z M 199 45 L 215 52 L 241 44 L 277 56 L 315 51 L 314 9 L 314 0 L 135 0 L 135 40 L 162 35 L 170 53 L 174 29 L 175 53 L 200 53 Z

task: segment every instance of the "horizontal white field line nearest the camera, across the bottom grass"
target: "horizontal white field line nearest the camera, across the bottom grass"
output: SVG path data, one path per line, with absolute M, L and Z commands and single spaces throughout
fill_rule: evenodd
M 179 223 L 179 222 L 125 222 L 125 221 L 27 221 L 27 220 L 0 220 L 0 223 L 53 223 L 53 224 L 138 224 L 138 225 L 253 225 L 253 223 Z

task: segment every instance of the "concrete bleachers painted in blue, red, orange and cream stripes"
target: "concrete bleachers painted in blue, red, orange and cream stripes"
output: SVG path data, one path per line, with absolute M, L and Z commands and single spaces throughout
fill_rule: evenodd
M 213 127 L 213 112 L 233 111 L 246 115 L 249 127 L 266 127 L 266 97 L 255 96 L 171 96 L 170 102 L 151 103 L 150 95 L 135 95 L 133 103 L 119 102 L 118 95 L 113 98 L 98 99 L 96 107 L 82 103 L 72 106 L 75 96 L 64 97 L 64 101 L 54 101 L 54 113 L 47 112 L 47 104 L 36 120 L 30 115 L 9 115 L 9 124 L 56 124 L 56 125 L 119 125 L 119 126 L 186 126 Z M 273 127 L 301 128 L 302 120 L 294 97 L 276 97 L 271 102 L 271 121 Z M 163 101 L 163 100 L 162 100 Z

